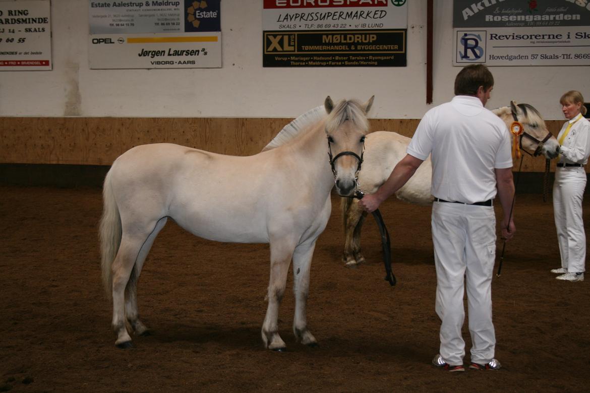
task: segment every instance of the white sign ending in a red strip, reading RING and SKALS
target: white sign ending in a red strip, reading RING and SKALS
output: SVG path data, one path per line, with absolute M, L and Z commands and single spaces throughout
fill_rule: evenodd
M 52 68 L 50 1 L 0 1 L 0 71 Z

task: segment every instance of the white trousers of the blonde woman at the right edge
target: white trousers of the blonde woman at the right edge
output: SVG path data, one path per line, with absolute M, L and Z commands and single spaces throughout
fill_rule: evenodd
M 568 272 L 584 272 L 586 234 L 582 220 L 582 199 L 586 188 L 583 167 L 558 167 L 553 183 L 553 214 L 557 228 L 561 267 Z

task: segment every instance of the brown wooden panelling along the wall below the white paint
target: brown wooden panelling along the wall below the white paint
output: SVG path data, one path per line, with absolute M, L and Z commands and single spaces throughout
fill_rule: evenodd
M 291 118 L 0 118 L 0 163 L 110 165 L 133 146 L 169 142 L 221 154 L 258 153 Z M 371 130 L 411 137 L 419 119 L 371 119 Z M 563 121 L 547 121 L 556 135 Z M 555 170 L 555 162 L 552 163 Z M 525 171 L 545 160 L 525 156 Z

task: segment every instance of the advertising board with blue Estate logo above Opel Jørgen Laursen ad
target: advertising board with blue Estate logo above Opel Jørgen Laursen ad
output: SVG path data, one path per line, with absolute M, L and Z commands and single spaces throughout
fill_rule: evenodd
M 90 1 L 90 68 L 221 67 L 220 0 Z

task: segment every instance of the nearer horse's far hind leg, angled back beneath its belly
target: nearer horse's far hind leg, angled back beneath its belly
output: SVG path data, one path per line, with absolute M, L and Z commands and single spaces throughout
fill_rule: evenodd
M 147 335 L 149 329 L 139 319 L 139 309 L 137 308 L 137 280 L 142 272 L 143 263 L 148 256 L 149 250 L 152 248 L 153 241 L 158 236 L 158 233 L 166 225 L 168 217 L 162 217 L 157 223 L 152 233 L 145 240 L 143 246 L 139 250 L 135 267 L 133 268 L 132 275 L 130 276 L 129 282 L 125 288 L 125 315 L 127 322 L 133 329 L 136 335 Z

